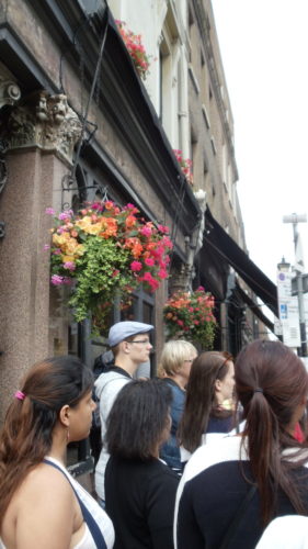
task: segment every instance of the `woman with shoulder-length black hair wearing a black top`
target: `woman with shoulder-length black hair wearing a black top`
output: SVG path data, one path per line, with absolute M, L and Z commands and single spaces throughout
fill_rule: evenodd
M 162 380 L 135 380 L 121 390 L 109 415 L 105 496 L 115 549 L 173 549 L 179 477 L 159 460 L 170 434 L 171 399 Z

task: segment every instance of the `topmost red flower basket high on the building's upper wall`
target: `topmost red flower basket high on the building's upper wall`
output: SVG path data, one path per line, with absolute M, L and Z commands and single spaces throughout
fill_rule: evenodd
M 149 74 L 150 56 L 147 55 L 145 46 L 141 42 L 140 34 L 134 34 L 129 29 L 126 29 L 126 23 L 124 21 L 115 21 L 118 32 L 125 43 L 132 60 L 137 69 L 137 72 L 146 80 Z

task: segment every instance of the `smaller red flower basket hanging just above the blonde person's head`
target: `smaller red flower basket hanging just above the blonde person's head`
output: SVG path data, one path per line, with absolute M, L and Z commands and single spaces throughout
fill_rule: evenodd
M 168 338 L 184 337 L 213 349 L 217 327 L 213 309 L 214 298 L 202 285 L 195 292 L 175 292 L 163 307 Z

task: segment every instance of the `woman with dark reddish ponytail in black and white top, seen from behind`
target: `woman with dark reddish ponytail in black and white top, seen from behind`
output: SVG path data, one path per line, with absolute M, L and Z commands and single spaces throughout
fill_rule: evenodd
M 252 549 L 266 525 L 308 516 L 308 444 L 294 437 L 308 394 L 303 361 L 280 341 L 256 340 L 236 360 L 244 430 L 198 448 L 176 495 L 178 549 Z

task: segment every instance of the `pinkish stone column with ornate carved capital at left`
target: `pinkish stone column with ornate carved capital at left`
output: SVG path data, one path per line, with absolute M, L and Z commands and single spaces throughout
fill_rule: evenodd
M 1 113 L 0 113 L 1 130 Z M 8 182 L 0 195 L 0 422 L 28 366 L 49 355 L 50 216 L 81 123 L 65 96 L 33 94 L 2 116 Z M 56 204 L 55 204 L 56 202 Z

